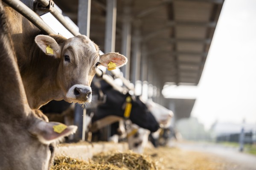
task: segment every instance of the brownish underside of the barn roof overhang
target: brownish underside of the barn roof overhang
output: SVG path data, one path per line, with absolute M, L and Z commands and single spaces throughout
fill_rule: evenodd
M 132 40 L 140 30 L 152 72 L 165 82 L 198 85 L 224 0 L 117 0 L 116 47 L 121 52 L 122 22 L 131 7 Z M 78 0 L 55 0 L 77 23 Z M 106 0 L 91 1 L 90 39 L 105 46 Z M 135 36 L 135 37 L 134 37 Z M 133 41 L 132 41 L 133 43 Z M 131 53 L 133 53 L 131 49 Z

